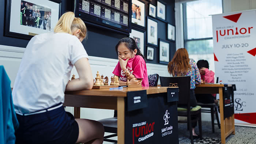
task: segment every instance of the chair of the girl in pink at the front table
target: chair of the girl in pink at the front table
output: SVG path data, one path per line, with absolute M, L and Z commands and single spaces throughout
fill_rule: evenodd
M 159 75 L 157 73 L 148 75 L 148 83 L 149 86 L 157 86 L 159 79 Z M 102 120 L 98 120 L 104 126 L 105 132 L 114 133 L 108 136 L 104 136 L 104 141 L 108 141 L 110 143 L 117 143 L 117 140 L 109 139 L 111 137 L 117 136 L 117 111 L 114 111 L 114 117 L 112 118 L 104 118 Z

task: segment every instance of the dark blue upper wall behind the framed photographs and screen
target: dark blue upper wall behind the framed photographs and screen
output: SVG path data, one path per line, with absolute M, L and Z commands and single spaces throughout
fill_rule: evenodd
M 4 20 L 5 20 L 5 8 L 6 8 L 7 0 L 0 0 L 0 45 L 8 45 L 8 46 L 17 46 L 26 48 L 28 40 L 11 38 L 4 36 Z M 146 15 L 148 15 L 148 1 L 142 0 L 145 3 L 146 7 Z M 175 16 L 174 16 L 174 3 L 175 0 L 163 0 L 167 3 L 167 12 L 166 12 L 166 20 L 168 23 L 175 26 Z M 152 0 L 151 2 L 154 5 L 157 5 L 157 0 Z M 62 0 L 61 3 L 61 14 L 66 11 L 72 11 L 73 9 L 72 0 Z M 166 39 L 166 23 L 161 20 L 157 20 L 158 22 L 158 38 Z M 88 39 L 83 41 L 84 48 L 86 49 L 89 56 L 97 56 L 97 57 L 105 57 L 105 58 L 117 58 L 114 47 L 119 39 L 126 37 L 126 35 L 117 34 L 115 32 L 98 29 L 95 27 L 87 26 L 89 33 Z M 146 43 L 146 41 L 145 41 Z M 170 42 L 170 60 L 172 59 L 174 53 L 176 51 L 176 45 L 174 42 Z M 144 54 L 146 55 L 146 49 L 144 50 Z M 154 60 L 148 60 L 148 63 L 158 64 L 159 61 L 159 49 L 155 48 L 154 52 Z

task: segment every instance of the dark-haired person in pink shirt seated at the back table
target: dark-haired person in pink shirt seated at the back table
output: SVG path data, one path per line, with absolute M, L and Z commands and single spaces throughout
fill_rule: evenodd
M 201 79 L 205 83 L 214 83 L 214 72 L 209 71 L 209 63 L 207 60 L 199 60 L 196 63 Z M 218 105 L 219 100 L 215 99 L 216 94 L 196 94 L 196 100 L 200 103 L 216 103 Z

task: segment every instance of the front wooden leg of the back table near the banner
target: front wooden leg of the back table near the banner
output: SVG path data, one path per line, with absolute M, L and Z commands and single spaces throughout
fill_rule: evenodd
M 219 87 L 219 109 L 221 114 L 221 143 L 226 144 L 222 87 Z

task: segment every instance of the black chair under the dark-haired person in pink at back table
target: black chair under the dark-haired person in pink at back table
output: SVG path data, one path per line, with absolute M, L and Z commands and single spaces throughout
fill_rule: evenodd
M 219 77 L 217 77 L 217 82 L 218 83 Z M 214 98 L 216 99 L 216 97 Z M 198 102 L 197 105 L 201 106 L 202 108 L 210 108 L 209 109 L 202 109 L 201 112 L 202 113 L 211 113 L 211 125 L 212 125 L 212 133 L 215 132 L 215 128 L 214 128 L 214 114 L 216 115 L 216 120 L 217 120 L 217 124 L 219 129 L 221 128 L 221 124 L 219 123 L 219 115 L 218 115 L 218 109 L 217 109 L 217 105 L 215 103 L 200 103 Z

